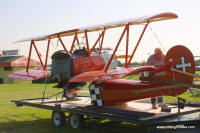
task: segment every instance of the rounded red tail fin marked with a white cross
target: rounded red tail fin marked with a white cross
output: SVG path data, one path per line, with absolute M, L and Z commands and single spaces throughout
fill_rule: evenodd
M 188 48 L 182 45 L 174 46 L 167 52 L 165 64 L 171 65 L 173 69 L 180 70 L 183 73 L 195 73 L 195 61 L 193 54 Z M 184 83 L 192 83 L 193 81 L 193 77 L 173 71 L 169 71 L 166 78 Z

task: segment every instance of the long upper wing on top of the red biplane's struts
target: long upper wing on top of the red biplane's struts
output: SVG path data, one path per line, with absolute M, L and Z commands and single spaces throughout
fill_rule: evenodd
M 17 42 L 24 42 L 24 41 L 31 41 L 31 40 L 42 41 L 42 40 L 57 38 L 58 36 L 63 37 L 63 36 L 71 36 L 74 34 L 81 34 L 81 33 L 84 33 L 85 31 L 87 31 L 87 32 L 99 31 L 99 30 L 104 30 L 104 29 L 121 27 L 121 26 L 125 26 L 127 24 L 137 25 L 137 24 L 144 24 L 144 23 L 167 20 L 167 19 L 174 19 L 177 17 L 178 16 L 174 13 L 160 13 L 160 14 L 146 16 L 146 17 L 131 18 L 131 19 L 126 19 L 126 20 L 121 20 L 121 21 L 114 21 L 111 23 L 104 23 L 104 24 L 93 25 L 93 26 L 88 26 L 88 27 L 81 27 L 81 28 L 72 29 L 72 30 L 65 30 L 65 31 L 61 31 L 61 32 L 53 33 L 53 34 L 22 39 Z

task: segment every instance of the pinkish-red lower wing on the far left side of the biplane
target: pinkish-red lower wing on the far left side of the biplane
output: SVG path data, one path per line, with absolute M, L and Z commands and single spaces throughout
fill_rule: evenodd
M 24 69 L 24 70 L 19 70 L 14 73 L 11 73 L 7 75 L 7 77 L 21 79 L 21 80 L 37 80 L 37 79 L 44 78 L 48 74 L 49 72 L 45 70 L 28 69 L 28 72 L 27 72 L 26 69 Z

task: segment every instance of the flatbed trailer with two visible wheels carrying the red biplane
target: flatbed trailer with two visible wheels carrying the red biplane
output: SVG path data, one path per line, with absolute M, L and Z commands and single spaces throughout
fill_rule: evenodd
M 66 121 L 65 113 L 70 113 L 69 123 L 72 128 L 79 128 L 83 124 L 84 116 L 124 121 L 141 126 L 170 126 L 184 125 L 199 128 L 200 107 L 185 106 L 180 109 L 176 105 L 169 105 L 171 112 L 161 112 L 161 108 L 151 109 L 150 103 L 131 101 L 118 105 L 95 106 L 90 97 L 78 96 L 73 100 L 34 98 L 13 100 L 17 106 L 31 106 L 52 110 L 52 121 L 55 126 L 63 126 Z M 174 128 L 174 127 L 172 127 Z

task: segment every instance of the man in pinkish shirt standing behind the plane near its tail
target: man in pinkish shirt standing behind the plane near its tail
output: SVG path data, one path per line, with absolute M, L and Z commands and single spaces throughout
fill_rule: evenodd
M 152 54 L 148 60 L 146 65 L 148 66 L 155 66 L 157 68 L 164 65 L 165 55 L 160 48 L 156 48 L 154 50 L 154 54 Z M 157 97 L 158 107 L 162 107 L 165 104 L 163 103 L 163 97 Z M 157 109 L 156 107 L 156 98 L 151 98 L 152 109 Z

